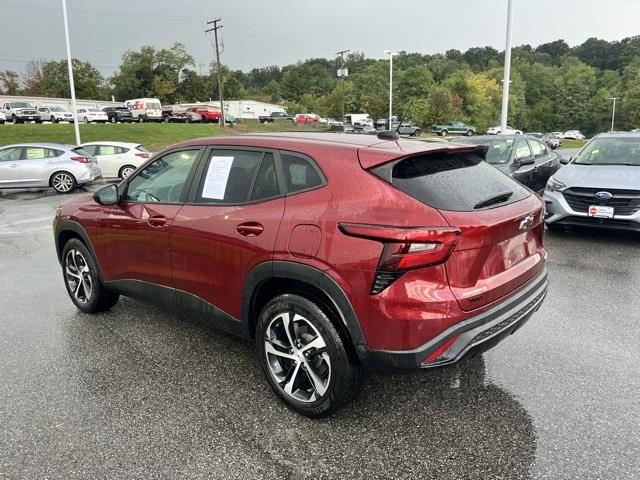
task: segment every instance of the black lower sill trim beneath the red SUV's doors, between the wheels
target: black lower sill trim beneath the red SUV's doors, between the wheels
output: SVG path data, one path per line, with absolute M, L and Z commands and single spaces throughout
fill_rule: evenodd
M 232 335 L 245 337 L 242 323 L 200 297 L 175 288 L 143 282 L 140 280 L 114 280 L 105 286 L 129 297 L 147 300 L 155 304 L 184 313 L 185 309 L 195 314 L 195 319 Z

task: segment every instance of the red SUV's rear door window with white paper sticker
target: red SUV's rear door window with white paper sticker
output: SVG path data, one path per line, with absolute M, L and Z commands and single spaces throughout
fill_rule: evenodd
M 245 203 L 265 156 L 250 150 L 214 150 L 198 190 L 199 203 Z

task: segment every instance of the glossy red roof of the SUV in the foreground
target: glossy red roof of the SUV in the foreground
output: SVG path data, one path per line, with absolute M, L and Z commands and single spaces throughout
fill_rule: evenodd
M 380 139 L 377 135 L 347 133 L 279 132 L 252 133 L 225 137 L 209 137 L 190 140 L 169 148 L 207 145 L 276 148 L 312 154 L 331 152 L 336 147 L 357 152 L 363 168 L 386 163 L 390 160 L 426 152 L 469 150 L 468 145 L 455 145 L 444 141 L 423 141 L 400 138 Z M 475 146 L 472 148 L 475 150 Z

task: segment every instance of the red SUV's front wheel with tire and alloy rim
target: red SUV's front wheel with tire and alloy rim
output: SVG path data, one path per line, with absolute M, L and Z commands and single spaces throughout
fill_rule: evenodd
M 95 259 L 77 238 L 69 240 L 62 250 L 62 272 L 71 301 L 85 313 L 109 309 L 120 298 L 102 285 Z

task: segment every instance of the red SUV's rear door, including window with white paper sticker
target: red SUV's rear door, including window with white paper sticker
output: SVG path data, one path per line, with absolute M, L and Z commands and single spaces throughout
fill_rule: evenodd
M 277 154 L 214 147 L 205 159 L 171 225 L 175 285 L 240 318 L 246 274 L 270 260 L 284 213 Z

